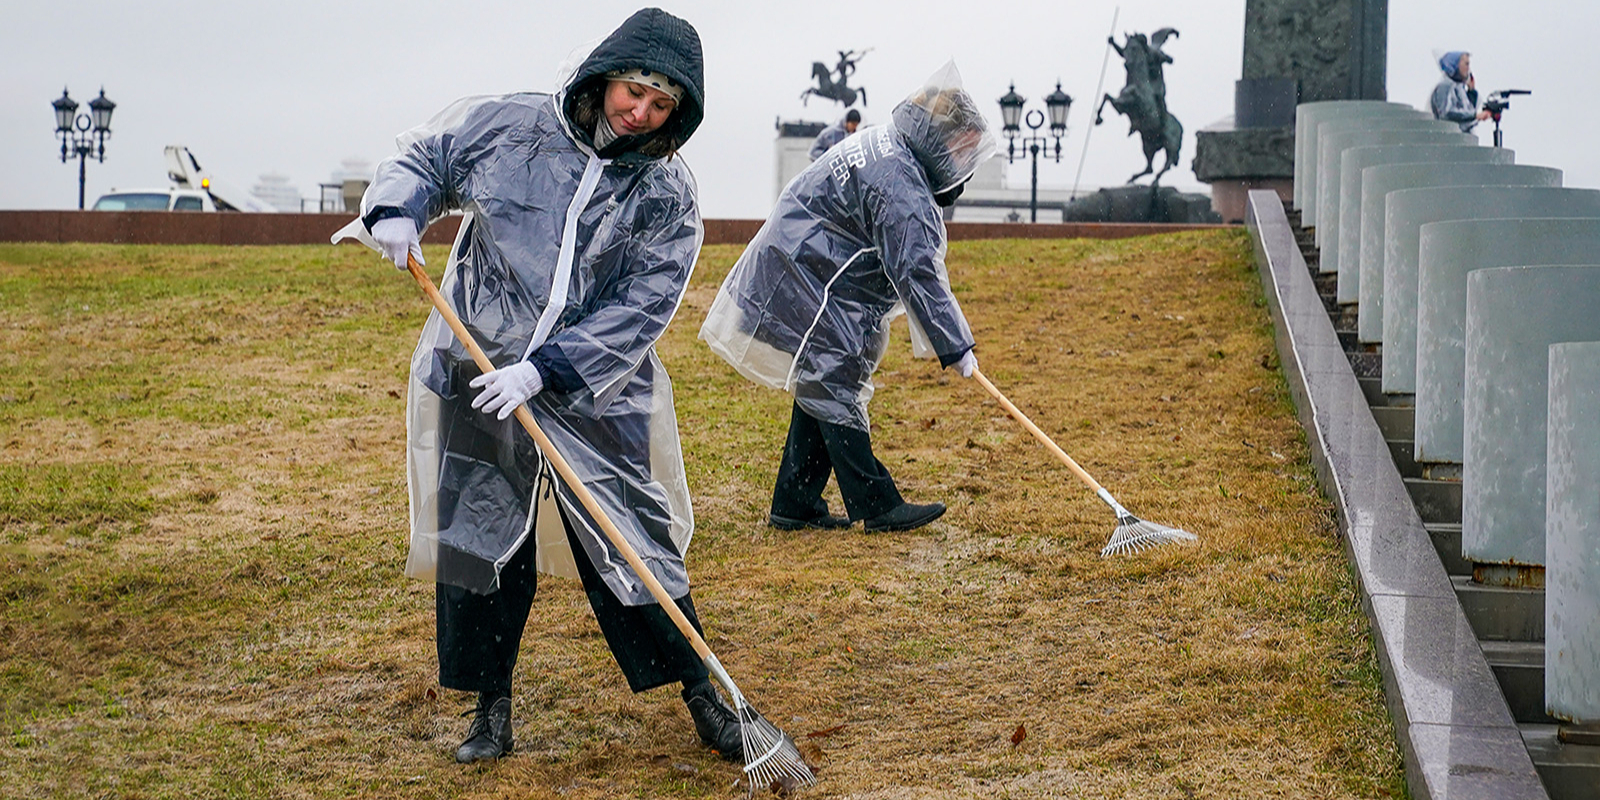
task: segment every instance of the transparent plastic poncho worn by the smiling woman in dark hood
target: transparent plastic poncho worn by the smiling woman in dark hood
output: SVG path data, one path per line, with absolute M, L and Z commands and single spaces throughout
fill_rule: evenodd
M 672 597 L 688 592 L 694 530 L 654 342 L 683 299 L 702 226 L 682 158 L 597 157 L 571 136 L 560 94 L 467 98 L 400 138 L 363 213 L 400 208 L 421 226 L 459 208 L 440 291 L 496 366 L 550 342 L 586 389 L 546 390 L 530 411 Z M 349 235 L 360 237 L 357 221 Z M 576 576 L 558 510 L 627 605 L 654 603 L 515 418 L 470 408 L 478 374 L 437 312 L 411 358 L 406 574 L 475 592 L 526 539 L 544 573 Z M 560 509 L 558 509 L 558 507 Z

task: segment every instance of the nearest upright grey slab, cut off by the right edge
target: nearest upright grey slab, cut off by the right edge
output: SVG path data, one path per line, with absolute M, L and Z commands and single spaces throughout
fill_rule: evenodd
M 1600 725 L 1600 342 L 1550 346 L 1544 707 Z

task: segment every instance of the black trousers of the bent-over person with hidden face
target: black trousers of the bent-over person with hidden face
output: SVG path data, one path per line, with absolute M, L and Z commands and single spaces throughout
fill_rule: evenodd
M 795 520 L 827 514 L 822 490 L 829 474 L 838 480 L 851 520 L 877 517 L 904 502 L 890 470 L 872 454 L 870 434 L 816 419 L 795 403 L 773 486 L 773 514 Z

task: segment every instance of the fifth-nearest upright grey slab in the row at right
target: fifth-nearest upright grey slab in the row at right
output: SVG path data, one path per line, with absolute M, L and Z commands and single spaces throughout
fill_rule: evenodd
M 1382 224 L 1374 222 L 1374 237 L 1381 235 L 1382 238 L 1374 245 L 1371 262 L 1366 261 L 1370 254 L 1366 250 L 1366 229 L 1365 226 L 1362 229 L 1362 285 L 1358 291 L 1360 298 L 1357 299 L 1360 309 L 1357 314 L 1357 338 L 1363 342 L 1384 341 L 1389 261 L 1394 258 L 1395 269 L 1400 269 L 1400 251 L 1405 251 L 1408 259 L 1416 259 L 1416 226 L 1443 219 L 1562 216 L 1515 205 L 1533 202 L 1526 198 L 1528 189 L 1522 189 L 1518 184 L 1533 186 L 1538 190 L 1550 190 L 1560 186 L 1560 170 L 1480 163 L 1368 166 L 1368 170 L 1378 170 L 1389 176 L 1389 181 L 1379 179 L 1376 184 L 1378 187 L 1389 186 L 1390 190 L 1379 202 Z M 1395 176 L 1400 176 L 1400 179 L 1395 181 Z M 1365 182 L 1366 179 L 1363 178 L 1363 192 L 1366 189 Z M 1397 206 L 1403 206 L 1398 216 L 1395 211 Z M 1405 227 L 1400 237 L 1395 235 L 1397 227 Z M 1414 275 L 1414 269 L 1411 274 Z M 1414 347 L 1416 344 L 1413 342 L 1411 346 Z M 1384 355 L 1387 357 L 1387 352 Z

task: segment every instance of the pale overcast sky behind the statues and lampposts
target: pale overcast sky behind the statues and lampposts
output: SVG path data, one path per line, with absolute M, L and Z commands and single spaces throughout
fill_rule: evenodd
M 562 58 L 602 37 L 635 2 L 454 3 L 419 0 L 0 0 L 0 208 L 74 208 L 77 163 L 62 165 L 50 101 L 101 86 L 118 107 L 106 163 L 90 162 L 90 202 L 110 187 L 165 186 L 162 147 L 187 144 L 214 174 L 250 187 L 262 173 L 306 197 L 349 157 L 378 162 L 394 136 L 450 101 L 552 88 Z M 797 99 L 813 61 L 874 48 L 853 83 L 867 122 L 955 58 L 990 110 L 1014 80 L 1030 107 L 1054 88 L 1075 98 L 1061 165 L 1040 182 L 1070 186 L 1093 118 L 1106 34 L 1176 27 L 1168 106 L 1184 123 L 1181 171 L 1197 187 L 1194 131 L 1232 114 L 1245 0 L 1056 0 L 973 3 L 702 2 L 662 8 L 686 18 L 706 48 L 706 123 L 685 147 L 709 218 L 762 218 L 773 198 L 773 122 L 830 120 L 837 104 Z M 1528 88 L 1506 118 L 1522 163 L 1600 186 L 1590 45 L 1600 3 L 1571 0 L 1390 0 L 1389 99 L 1422 106 L 1438 80 L 1435 50 L 1469 50 L 1480 90 Z M 1582 38 L 1581 38 L 1582 37 Z M 1106 88 L 1122 86 L 1114 59 Z M 1107 110 L 1109 114 L 1109 110 Z M 1088 141 L 1085 186 L 1120 184 L 1144 165 L 1126 122 L 1107 117 Z M 1488 142 L 1488 128 L 1480 130 Z M 1026 181 L 1026 166 L 1014 176 Z M 1026 186 L 1026 184 L 1021 184 Z

